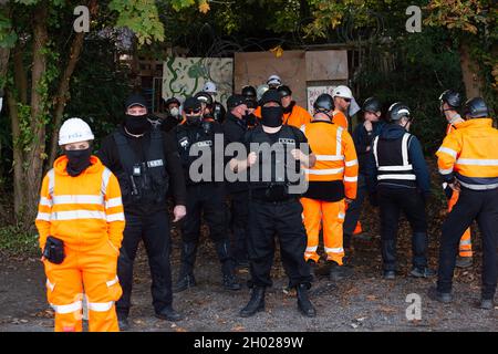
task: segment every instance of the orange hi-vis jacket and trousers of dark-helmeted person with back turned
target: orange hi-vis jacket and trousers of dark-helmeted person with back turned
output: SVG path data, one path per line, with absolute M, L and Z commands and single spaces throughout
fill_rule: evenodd
M 336 183 L 344 186 L 346 198 L 356 198 L 357 157 L 351 135 L 341 126 L 330 122 L 314 121 L 301 127 L 305 134 L 311 150 L 317 156 L 313 168 L 305 169 L 310 183 Z M 318 262 L 320 225 L 323 223 L 323 243 L 326 259 L 342 266 L 344 257 L 342 225 L 345 217 L 344 199 L 325 201 L 331 196 L 323 196 L 324 200 L 301 198 L 303 221 L 308 235 L 308 247 L 304 259 Z

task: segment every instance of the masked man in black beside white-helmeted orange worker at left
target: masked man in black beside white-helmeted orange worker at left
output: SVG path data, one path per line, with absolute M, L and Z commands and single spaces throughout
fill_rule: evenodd
M 173 222 L 186 214 L 185 179 L 175 142 L 147 121 L 146 101 L 139 95 L 126 100 L 126 119 L 102 142 L 97 153 L 116 175 L 123 196 L 126 227 L 117 261 L 123 295 L 116 303 L 120 327 L 128 327 L 133 262 L 141 240 L 148 256 L 152 295 L 156 316 L 178 321 L 173 310 L 170 237 L 166 195 L 175 199 Z M 169 187 L 170 186 L 170 187 Z

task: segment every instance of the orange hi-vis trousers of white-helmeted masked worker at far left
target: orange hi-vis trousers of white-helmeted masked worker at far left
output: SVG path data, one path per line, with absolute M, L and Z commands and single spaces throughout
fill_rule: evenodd
M 64 252 L 61 264 L 43 261 L 46 296 L 55 312 L 55 332 L 82 331 L 83 296 L 89 306 L 90 332 L 118 332 L 114 306 L 122 294 L 116 274 L 118 250 L 105 240 L 92 250 L 64 247 Z

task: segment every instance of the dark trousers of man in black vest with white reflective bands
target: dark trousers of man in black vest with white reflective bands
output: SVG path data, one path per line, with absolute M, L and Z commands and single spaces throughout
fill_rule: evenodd
M 427 267 L 427 217 L 421 194 L 409 188 L 378 186 L 381 209 L 381 249 L 384 270 L 396 270 L 396 239 L 403 211 L 412 227 L 412 262 L 414 268 Z

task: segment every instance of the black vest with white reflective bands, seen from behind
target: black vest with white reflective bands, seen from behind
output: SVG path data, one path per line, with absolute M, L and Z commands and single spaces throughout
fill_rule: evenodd
M 405 133 L 398 139 L 375 137 L 373 154 L 377 168 L 378 184 L 416 187 L 416 176 L 408 156 L 411 139 L 412 135 L 409 133 Z

